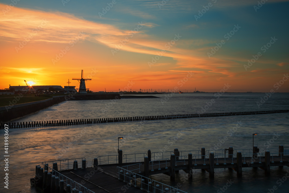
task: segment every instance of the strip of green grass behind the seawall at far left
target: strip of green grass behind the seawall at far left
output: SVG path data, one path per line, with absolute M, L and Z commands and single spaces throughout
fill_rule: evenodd
M 34 102 L 34 101 L 40 101 L 52 98 L 52 96 L 57 96 L 60 94 L 55 95 L 41 95 L 41 96 L 35 96 L 35 94 L 23 94 L 22 97 L 19 97 L 19 95 L 0 95 L 0 106 L 8 106 L 12 104 L 22 104 L 26 102 Z M 64 95 L 64 94 L 61 94 Z M 16 103 L 15 103 L 16 102 Z

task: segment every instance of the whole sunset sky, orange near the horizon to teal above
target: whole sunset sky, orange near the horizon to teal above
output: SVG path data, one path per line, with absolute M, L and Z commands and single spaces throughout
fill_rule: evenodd
M 0 0 L 0 89 L 289 92 L 286 0 Z

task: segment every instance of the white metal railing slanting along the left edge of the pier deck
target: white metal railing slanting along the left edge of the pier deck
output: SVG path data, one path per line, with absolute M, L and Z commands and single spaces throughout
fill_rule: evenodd
M 69 184 L 72 188 L 75 188 L 78 191 L 82 191 L 82 192 L 84 191 L 84 193 L 86 193 L 86 192 L 95 193 L 92 190 L 89 190 L 88 188 L 84 187 L 83 185 L 77 183 L 76 181 L 73 181 L 72 179 L 70 179 L 70 178 L 64 176 L 63 174 L 59 173 L 58 171 L 52 169 L 47 164 L 42 163 L 42 165 L 43 165 L 43 167 L 46 167 L 48 169 L 47 170 L 48 172 L 53 172 L 53 175 L 55 175 L 55 177 L 58 177 L 59 181 L 63 180 L 66 185 Z M 59 185 L 59 183 L 58 183 L 58 185 Z

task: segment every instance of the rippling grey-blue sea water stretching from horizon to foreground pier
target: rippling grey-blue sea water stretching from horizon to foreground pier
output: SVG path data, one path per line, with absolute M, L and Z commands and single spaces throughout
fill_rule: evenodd
M 136 117 L 194 113 L 266 111 L 289 109 L 289 93 L 167 93 L 159 98 L 121 100 L 65 101 L 12 122 Z M 9 153 L 1 150 L 0 192 L 36 193 L 30 187 L 35 165 L 44 161 L 103 155 L 185 150 L 249 149 L 277 152 L 279 145 L 289 147 L 289 113 L 198 117 L 142 122 L 117 122 L 74 126 L 9 129 Z M 0 130 L 4 146 L 4 130 Z M 275 136 L 275 137 L 274 137 Z M 289 149 L 289 148 L 288 148 Z M 9 157 L 9 189 L 4 188 L 5 161 Z M 242 178 L 234 170 L 215 169 L 209 173 L 194 170 L 192 179 L 176 174 L 179 189 L 186 192 L 289 192 L 289 167 L 271 167 L 270 176 L 260 168 L 243 168 Z M 161 183 L 174 185 L 165 174 L 150 176 Z M 124 190 L 119 190 L 124 192 Z

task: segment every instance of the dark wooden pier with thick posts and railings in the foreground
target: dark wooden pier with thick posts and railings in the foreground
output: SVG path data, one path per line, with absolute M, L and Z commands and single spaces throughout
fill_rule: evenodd
M 91 166 L 89 164 L 91 163 Z M 97 192 L 179 192 L 180 183 L 175 186 L 150 179 L 154 174 L 166 174 L 175 181 L 175 174 L 183 170 L 192 180 L 193 170 L 208 172 L 214 179 L 214 170 L 229 168 L 242 177 L 242 168 L 261 168 L 264 175 L 270 175 L 272 166 L 289 167 L 289 147 L 280 145 L 277 149 L 269 149 L 264 155 L 257 146 L 253 149 L 221 150 L 186 150 L 98 156 L 92 161 L 85 157 L 46 161 L 42 166 L 36 165 L 35 177 L 30 179 L 32 185 L 44 192 L 61 193 L 97 193 Z M 226 172 L 224 170 L 224 172 Z

